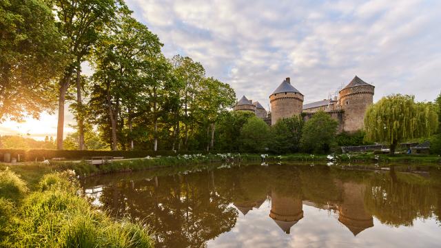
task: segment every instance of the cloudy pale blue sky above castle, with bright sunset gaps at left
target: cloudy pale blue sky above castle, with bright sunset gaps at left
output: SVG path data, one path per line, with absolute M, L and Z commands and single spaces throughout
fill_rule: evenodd
M 355 75 L 376 87 L 374 101 L 394 93 L 432 101 L 441 91 L 441 1 L 126 3 L 158 34 L 165 56 L 192 57 L 238 99 L 245 95 L 267 110 L 269 94 L 286 77 L 305 103 L 327 99 Z M 44 132 L 34 128 L 32 137 L 55 136 L 57 116 L 43 116 L 32 127 Z M 21 125 L 3 123 L 0 134 L 28 132 Z

